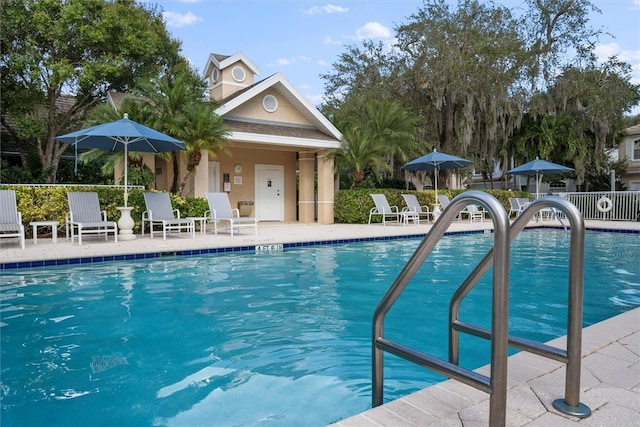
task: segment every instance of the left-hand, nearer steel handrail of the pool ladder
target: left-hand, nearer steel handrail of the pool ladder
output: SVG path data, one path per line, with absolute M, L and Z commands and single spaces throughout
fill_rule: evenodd
M 384 338 L 384 318 L 424 260 L 460 211 L 474 203 L 483 206 L 494 223 L 493 297 L 491 315 L 491 375 L 486 377 L 454 363 L 430 356 Z M 481 191 L 468 191 L 454 198 L 422 240 L 387 293 L 376 307 L 372 336 L 372 403 L 383 403 L 383 352 L 388 351 L 435 372 L 457 379 L 490 394 L 489 423 L 504 426 L 507 404 L 507 339 L 509 304 L 509 218 L 504 206 Z

